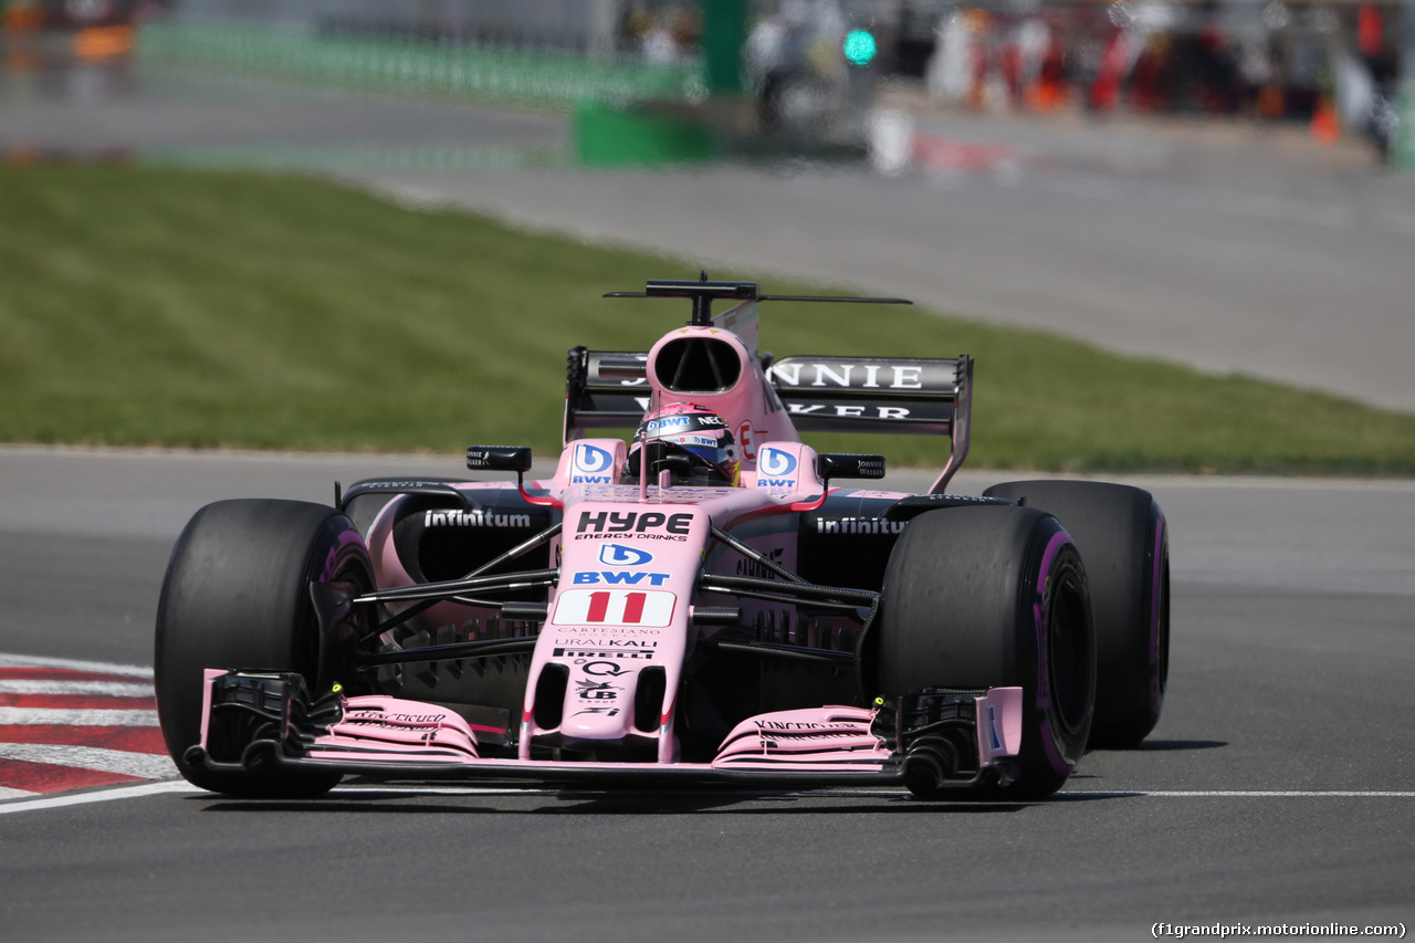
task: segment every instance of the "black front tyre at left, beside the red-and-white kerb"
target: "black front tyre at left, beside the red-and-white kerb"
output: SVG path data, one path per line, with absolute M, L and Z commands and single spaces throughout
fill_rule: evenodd
M 184 755 L 201 739 L 205 668 L 297 671 L 314 694 L 351 681 L 364 626 L 344 612 L 321 627 L 310 588 L 324 583 L 350 598 L 374 586 L 371 572 L 364 539 L 333 508 L 236 500 L 197 511 L 167 565 L 153 665 L 163 739 L 187 782 L 284 799 L 318 796 L 340 782 L 323 772 L 212 772 Z

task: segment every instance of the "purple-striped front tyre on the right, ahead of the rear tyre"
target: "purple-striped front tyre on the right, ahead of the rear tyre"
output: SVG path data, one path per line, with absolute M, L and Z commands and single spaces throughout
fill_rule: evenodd
M 1020 775 L 979 799 L 1050 796 L 1085 752 L 1095 641 L 1085 569 L 1050 514 L 1003 505 L 916 517 L 890 555 L 879 623 L 880 692 L 1023 688 Z M 954 789 L 910 780 L 925 799 Z

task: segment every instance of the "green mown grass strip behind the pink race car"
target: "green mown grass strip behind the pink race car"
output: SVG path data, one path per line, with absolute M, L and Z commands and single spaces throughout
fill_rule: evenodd
M 647 350 L 696 263 L 296 176 L 0 168 L 0 440 L 559 449 L 574 344 Z M 751 272 L 771 292 L 845 290 Z M 971 466 L 1409 474 L 1415 416 L 918 309 L 763 304 L 763 350 L 978 358 Z M 824 436 L 938 464 L 947 442 Z

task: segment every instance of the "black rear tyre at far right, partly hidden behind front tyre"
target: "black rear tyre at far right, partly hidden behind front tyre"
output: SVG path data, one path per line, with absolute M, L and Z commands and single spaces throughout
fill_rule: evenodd
M 985 491 L 1057 515 L 1091 581 L 1097 681 L 1091 746 L 1135 748 L 1169 680 L 1169 530 L 1149 491 L 1101 481 L 1009 481 Z

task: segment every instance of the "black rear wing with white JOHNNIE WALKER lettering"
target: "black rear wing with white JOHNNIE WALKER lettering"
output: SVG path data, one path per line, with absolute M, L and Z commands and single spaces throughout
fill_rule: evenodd
M 941 493 L 968 455 L 972 357 L 763 358 L 766 377 L 798 432 L 948 436 L 952 452 L 931 491 Z M 649 405 L 648 354 L 569 354 L 565 442 L 587 429 L 633 429 Z

